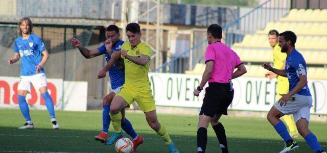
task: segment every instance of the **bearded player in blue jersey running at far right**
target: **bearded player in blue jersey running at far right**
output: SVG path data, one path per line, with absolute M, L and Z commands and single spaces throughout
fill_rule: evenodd
M 285 124 L 279 119 L 290 114 L 293 114 L 298 133 L 305 138 L 314 152 L 325 152 L 308 127 L 312 96 L 308 87 L 306 61 L 295 49 L 296 35 L 291 31 L 283 32 L 279 34 L 278 42 L 282 48 L 281 52 L 287 54 L 285 69 L 272 68 L 269 63 L 264 63 L 262 66 L 275 74 L 287 77 L 290 83 L 289 92 L 282 94 L 282 98 L 275 102 L 267 115 L 268 121 L 285 141 L 285 147 L 281 152 L 288 152 L 299 147 L 287 132 Z

